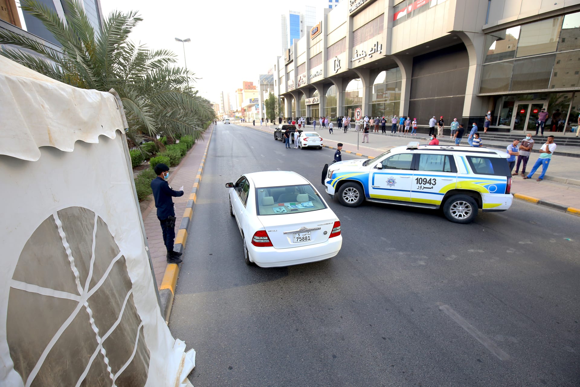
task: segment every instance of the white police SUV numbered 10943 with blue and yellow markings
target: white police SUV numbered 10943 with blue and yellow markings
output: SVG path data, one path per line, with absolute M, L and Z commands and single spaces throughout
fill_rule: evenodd
M 335 162 L 322 171 L 323 183 L 348 207 L 366 200 L 443 208 L 451 222 L 469 223 L 479 209 L 506 211 L 512 205 L 506 158 L 501 150 L 414 142 L 373 159 Z

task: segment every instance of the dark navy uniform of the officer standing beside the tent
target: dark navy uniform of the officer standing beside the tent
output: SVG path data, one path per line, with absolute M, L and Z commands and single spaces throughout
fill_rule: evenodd
M 163 241 L 167 252 L 173 251 L 173 240 L 175 240 L 175 208 L 173 207 L 172 196 L 183 196 L 183 191 L 175 191 L 169 187 L 165 179 L 157 178 L 151 180 L 151 190 L 155 198 L 155 207 L 157 207 L 157 219 L 161 222 L 163 231 Z

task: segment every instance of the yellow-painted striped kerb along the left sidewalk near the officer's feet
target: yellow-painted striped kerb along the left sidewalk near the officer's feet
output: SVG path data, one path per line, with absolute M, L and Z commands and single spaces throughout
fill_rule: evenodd
M 215 126 L 213 129 L 215 129 Z M 187 201 L 186 208 L 183 211 L 182 220 L 179 224 L 179 230 L 177 230 L 177 236 L 175 237 L 175 246 L 173 249 L 182 254 L 187 244 L 187 230 L 189 229 L 191 218 L 193 217 L 193 209 L 195 207 L 195 202 L 197 201 L 197 192 L 200 188 L 201 176 L 203 175 L 205 158 L 208 154 L 209 143 L 212 139 L 213 129 L 209 135 L 208 143 L 205 146 L 204 155 L 200 162 L 200 168 L 197 171 L 197 176 L 195 176 L 193 186 L 191 187 L 189 200 Z M 179 278 L 180 267 L 181 263 L 179 263 L 179 265 L 176 263 L 168 263 L 165 267 L 163 280 L 161 281 L 161 285 L 159 287 L 161 313 L 163 314 L 166 324 L 169 323 L 169 316 L 171 316 L 171 308 L 173 305 L 173 298 L 175 296 L 175 288 L 177 287 L 177 279 Z

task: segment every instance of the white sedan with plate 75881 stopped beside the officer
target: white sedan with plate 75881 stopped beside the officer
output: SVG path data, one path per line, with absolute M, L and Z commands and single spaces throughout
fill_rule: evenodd
M 247 173 L 226 187 L 247 265 L 299 265 L 332 258 L 340 251 L 340 221 L 298 173 Z

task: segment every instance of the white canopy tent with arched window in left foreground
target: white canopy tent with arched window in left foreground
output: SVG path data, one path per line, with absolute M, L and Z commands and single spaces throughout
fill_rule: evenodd
M 190 386 L 151 275 L 116 93 L 0 56 L 0 385 Z

